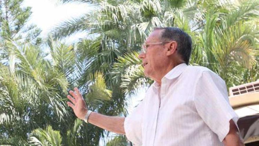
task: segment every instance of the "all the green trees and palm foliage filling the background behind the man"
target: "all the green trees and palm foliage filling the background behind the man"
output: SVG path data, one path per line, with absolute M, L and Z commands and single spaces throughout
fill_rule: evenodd
M 258 1 L 60 0 L 96 9 L 54 27 L 50 53 L 20 37 L 31 14 L 21 1 L 0 0 L 0 145 L 99 145 L 110 133 L 77 119 L 65 104 L 67 91 L 78 86 L 89 109 L 126 116 L 127 98 L 153 82 L 138 55 L 155 27 L 190 34 L 190 65 L 210 68 L 228 87 L 259 78 Z M 93 37 L 58 42 L 80 31 Z M 127 145 L 126 137 L 115 135 L 106 145 Z

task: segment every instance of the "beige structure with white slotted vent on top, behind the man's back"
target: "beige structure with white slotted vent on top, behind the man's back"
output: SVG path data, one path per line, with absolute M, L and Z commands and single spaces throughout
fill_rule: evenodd
M 229 95 L 230 105 L 240 117 L 238 127 L 245 145 L 259 145 L 259 80 L 231 87 Z

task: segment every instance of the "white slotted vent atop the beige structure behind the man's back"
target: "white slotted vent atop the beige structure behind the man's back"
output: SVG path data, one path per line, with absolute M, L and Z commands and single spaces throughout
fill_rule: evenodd
M 246 83 L 243 85 L 229 88 L 230 96 L 240 95 L 240 94 L 245 94 L 245 93 L 250 93 L 250 92 L 259 92 L 259 81 Z

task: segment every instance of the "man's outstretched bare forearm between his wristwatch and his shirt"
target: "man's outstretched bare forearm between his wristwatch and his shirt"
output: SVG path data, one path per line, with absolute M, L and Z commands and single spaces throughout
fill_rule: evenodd
M 108 131 L 125 134 L 124 117 L 112 117 L 92 112 L 88 117 L 88 122 Z

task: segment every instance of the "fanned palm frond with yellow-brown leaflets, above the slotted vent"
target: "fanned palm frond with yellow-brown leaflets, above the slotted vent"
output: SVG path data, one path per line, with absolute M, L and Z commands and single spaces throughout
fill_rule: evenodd
M 237 61 L 245 67 L 255 62 L 253 48 L 258 30 L 251 29 L 242 23 L 230 27 L 228 30 L 217 29 L 214 54 L 221 66 L 231 61 Z

